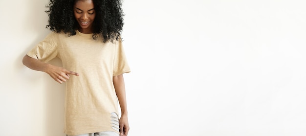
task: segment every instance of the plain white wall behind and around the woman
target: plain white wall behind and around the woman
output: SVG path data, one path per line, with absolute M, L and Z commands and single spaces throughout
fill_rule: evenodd
M 124 0 L 129 136 L 306 136 L 304 1 Z M 47 3 L 0 0 L 1 136 L 65 136 L 64 84 L 22 65 Z

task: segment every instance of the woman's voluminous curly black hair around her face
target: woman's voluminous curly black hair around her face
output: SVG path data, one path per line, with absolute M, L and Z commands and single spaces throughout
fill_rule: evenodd
M 76 35 L 80 27 L 73 14 L 73 6 L 77 0 L 50 0 L 46 6 L 49 10 L 49 24 L 46 28 L 56 33 L 64 32 L 69 36 Z M 92 0 L 96 16 L 93 22 L 93 39 L 101 34 L 104 42 L 119 40 L 122 32 L 123 11 L 121 0 Z

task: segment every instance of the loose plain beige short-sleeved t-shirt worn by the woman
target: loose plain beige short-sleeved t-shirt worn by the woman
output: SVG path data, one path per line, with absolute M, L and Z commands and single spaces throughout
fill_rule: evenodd
M 92 34 L 68 37 L 50 33 L 27 53 L 31 58 L 47 62 L 58 57 L 70 76 L 65 89 L 65 129 L 67 135 L 114 131 L 118 133 L 118 101 L 113 76 L 130 72 L 122 42 L 103 42 Z

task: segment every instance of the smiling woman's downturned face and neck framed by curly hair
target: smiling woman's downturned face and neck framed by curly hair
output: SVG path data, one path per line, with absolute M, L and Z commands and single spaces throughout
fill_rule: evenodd
M 92 23 L 96 13 L 92 0 L 77 0 L 74 4 L 73 13 L 80 25 L 79 31 L 84 34 L 93 33 Z

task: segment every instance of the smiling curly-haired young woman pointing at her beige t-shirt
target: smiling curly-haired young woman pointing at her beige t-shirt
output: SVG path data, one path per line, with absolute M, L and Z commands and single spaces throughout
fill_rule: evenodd
M 66 83 L 67 136 L 127 136 L 123 73 L 129 73 L 120 34 L 120 0 L 50 0 L 51 32 L 24 56 L 25 66 Z M 63 67 L 46 63 L 58 57 Z M 118 117 L 119 100 L 121 117 Z

